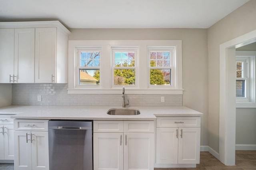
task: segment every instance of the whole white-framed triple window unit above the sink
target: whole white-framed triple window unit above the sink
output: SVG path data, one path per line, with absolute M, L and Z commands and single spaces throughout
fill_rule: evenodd
M 70 40 L 68 94 L 183 94 L 181 40 Z

